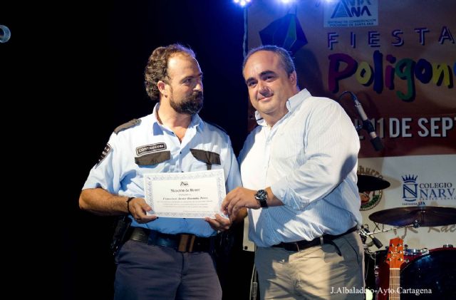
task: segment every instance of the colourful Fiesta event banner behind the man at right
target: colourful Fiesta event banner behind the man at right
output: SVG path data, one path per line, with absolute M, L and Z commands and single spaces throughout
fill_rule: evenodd
M 371 120 L 383 150 L 360 129 L 358 174 L 390 183 L 364 195 L 363 223 L 371 231 L 393 227 L 385 224 L 392 216 L 369 219 L 380 210 L 456 207 L 455 16 L 454 0 L 257 0 L 248 8 L 247 48 L 284 46 L 300 88 L 338 101 L 355 126 L 358 100 Z M 249 118 L 249 128 L 253 123 Z M 456 225 L 377 237 L 387 244 L 393 236 L 410 247 L 456 245 Z

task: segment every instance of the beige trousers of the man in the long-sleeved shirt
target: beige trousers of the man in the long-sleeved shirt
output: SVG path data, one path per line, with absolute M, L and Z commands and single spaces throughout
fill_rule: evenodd
M 257 248 L 261 299 L 364 299 L 363 244 L 357 232 L 300 252 Z

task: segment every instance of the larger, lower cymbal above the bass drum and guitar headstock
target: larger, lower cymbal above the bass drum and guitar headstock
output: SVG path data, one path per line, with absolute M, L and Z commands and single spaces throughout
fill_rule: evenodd
M 419 226 L 445 226 L 456 224 L 456 207 L 412 206 L 380 210 L 369 216 L 373 222 L 393 226 L 414 224 Z

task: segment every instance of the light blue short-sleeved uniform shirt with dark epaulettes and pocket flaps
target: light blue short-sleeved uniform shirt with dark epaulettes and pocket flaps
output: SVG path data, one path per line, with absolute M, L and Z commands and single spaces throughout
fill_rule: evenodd
M 115 195 L 143 198 L 144 174 L 207 170 L 206 162 L 197 160 L 190 149 L 219 155 L 221 165 L 212 165 L 212 170 L 224 170 L 227 192 L 242 185 L 239 165 L 226 133 L 205 123 L 199 115 L 193 115 L 180 143 L 172 130 L 157 121 L 158 105 L 160 104 L 155 105 L 152 114 L 140 118 L 140 123 L 110 136 L 105 149 L 108 154 L 90 170 L 83 190 L 102 187 Z M 170 152 L 169 160 L 165 160 L 167 151 Z M 157 163 L 150 164 L 147 157 L 152 157 L 152 161 Z M 133 219 L 132 226 L 167 234 L 190 233 L 199 237 L 209 237 L 216 233 L 204 219 L 160 217 L 147 224 L 139 224 Z

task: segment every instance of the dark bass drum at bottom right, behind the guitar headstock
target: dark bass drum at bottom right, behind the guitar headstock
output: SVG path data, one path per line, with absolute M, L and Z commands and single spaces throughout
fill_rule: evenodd
M 456 248 L 432 249 L 400 269 L 400 299 L 456 299 L 455 282 Z

